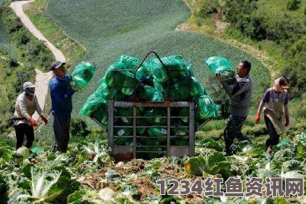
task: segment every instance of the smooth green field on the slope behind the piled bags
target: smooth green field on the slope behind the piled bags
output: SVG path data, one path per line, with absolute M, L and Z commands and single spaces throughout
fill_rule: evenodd
M 65 10 L 65 12 L 63 12 Z M 176 32 L 190 12 L 182 1 L 50 1 L 47 15 L 72 38 L 88 49 L 83 60 L 94 61 L 99 71 L 88 88 L 74 95 L 74 115 L 83 101 L 97 88 L 108 65 L 122 54 L 142 58 L 150 50 L 161 56 L 182 55 L 191 60 L 195 76 L 207 78 L 202 62 L 209 56 L 224 56 L 236 66 L 242 59 L 252 62 L 253 104 L 268 87 L 268 70 L 255 58 L 226 43 L 198 33 Z M 211 86 L 205 84 L 207 89 Z

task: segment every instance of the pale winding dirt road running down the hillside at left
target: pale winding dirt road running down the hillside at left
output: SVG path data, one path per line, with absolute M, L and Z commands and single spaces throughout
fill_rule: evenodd
M 45 41 L 45 45 L 47 45 L 47 47 L 51 49 L 51 52 L 54 54 L 57 61 L 66 61 L 63 53 L 59 49 L 57 49 L 53 44 L 51 44 L 51 42 L 49 42 L 45 38 L 45 36 L 43 36 L 42 33 L 40 33 L 40 31 L 38 31 L 38 29 L 36 29 L 36 27 L 33 25 L 29 17 L 24 13 L 22 7 L 24 6 L 24 4 L 30 2 L 33 1 L 14 1 L 10 4 L 10 8 L 13 8 L 15 14 L 17 15 L 17 17 L 20 18 L 24 26 L 26 26 L 26 28 L 29 29 L 29 31 L 31 31 L 31 33 L 33 33 L 33 35 L 36 38 L 38 38 L 38 40 Z M 38 97 L 38 102 L 40 104 L 40 107 L 42 107 L 42 109 L 45 109 L 45 102 L 48 93 L 48 83 L 50 79 L 53 77 L 53 72 L 44 73 L 38 69 L 35 69 L 35 72 L 36 72 L 35 85 L 37 85 L 35 87 L 35 95 Z M 38 114 L 36 112 L 33 115 L 33 118 L 35 120 L 38 119 Z

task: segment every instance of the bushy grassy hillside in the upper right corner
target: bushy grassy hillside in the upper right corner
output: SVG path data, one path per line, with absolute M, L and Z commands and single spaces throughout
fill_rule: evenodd
M 247 50 L 268 65 L 273 79 L 281 75 L 289 78 L 291 97 L 305 93 L 306 1 L 186 3 L 193 13 L 186 30 L 209 33 Z

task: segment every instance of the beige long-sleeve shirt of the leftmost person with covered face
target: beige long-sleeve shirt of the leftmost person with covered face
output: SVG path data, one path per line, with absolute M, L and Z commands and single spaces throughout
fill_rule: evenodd
M 38 115 L 42 115 L 42 109 L 40 108 L 40 104 L 38 104 L 36 95 L 33 95 L 33 100 L 29 100 L 25 92 L 21 93 L 16 100 L 14 116 L 15 118 L 26 118 L 26 120 L 17 120 L 14 124 L 26 123 L 31 125 L 29 119 L 35 111 L 38 112 Z

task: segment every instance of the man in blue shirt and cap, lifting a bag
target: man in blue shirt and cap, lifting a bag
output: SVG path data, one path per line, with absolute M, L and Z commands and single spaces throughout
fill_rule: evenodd
M 75 84 L 66 75 L 65 63 L 55 61 L 51 63 L 54 77 L 49 82 L 51 95 L 51 114 L 55 136 L 54 152 L 67 152 L 70 139 L 70 118 L 72 111 L 72 95 L 77 91 Z

